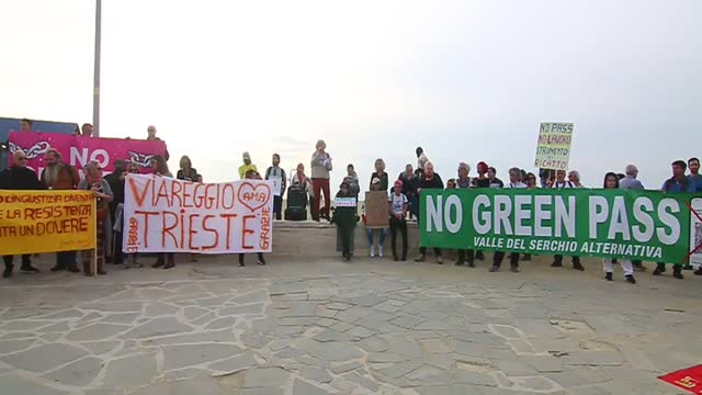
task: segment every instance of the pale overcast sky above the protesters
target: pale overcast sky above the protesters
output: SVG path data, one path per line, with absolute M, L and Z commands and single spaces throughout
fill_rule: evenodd
M 659 188 L 702 156 L 702 1 L 157 1 L 103 3 L 105 137 L 154 124 L 171 168 L 205 181 L 280 153 L 332 182 L 424 147 L 437 171 L 532 168 L 539 124 L 575 123 L 588 185 L 638 165 Z M 0 116 L 91 122 L 94 1 L 0 2 Z M 336 185 L 332 187 L 332 190 Z

